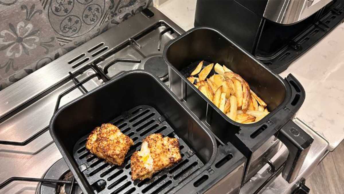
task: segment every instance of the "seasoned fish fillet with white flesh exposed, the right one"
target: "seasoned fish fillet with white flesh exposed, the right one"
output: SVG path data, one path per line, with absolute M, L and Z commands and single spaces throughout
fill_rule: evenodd
M 179 141 L 176 138 L 162 137 L 162 134 L 151 134 L 143 139 L 140 151 L 130 158 L 132 180 L 152 178 L 152 175 L 164 168 L 179 162 Z

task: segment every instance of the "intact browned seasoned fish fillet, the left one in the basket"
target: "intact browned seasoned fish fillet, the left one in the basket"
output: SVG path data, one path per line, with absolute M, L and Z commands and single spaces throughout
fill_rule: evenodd
M 107 162 L 122 165 L 133 140 L 112 124 L 96 127 L 87 138 L 86 148 Z

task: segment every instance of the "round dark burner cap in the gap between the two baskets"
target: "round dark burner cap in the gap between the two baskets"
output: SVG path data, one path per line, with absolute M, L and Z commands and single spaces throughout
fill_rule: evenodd
M 162 56 L 153 56 L 144 63 L 144 70 L 157 75 L 162 81 L 168 78 L 168 68 Z

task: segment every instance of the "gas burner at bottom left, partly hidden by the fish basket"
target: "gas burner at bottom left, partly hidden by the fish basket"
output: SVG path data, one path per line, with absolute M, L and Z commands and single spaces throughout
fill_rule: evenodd
M 60 177 L 60 180 L 64 181 L 72 181 L 73 174 L 69 170 L 66 162 L 63 158 L 59 159 L 55 162 L 45 173 L 43 178 L 50 178 L 56 179 Z M 49 184 L 49 183 L 41 183 L 38 187 L 38 194 L 69 194 L 71 189 L 71 184 Z M 82 191 L 78 185 L 74 185 L 73 194 L 81 194 Z

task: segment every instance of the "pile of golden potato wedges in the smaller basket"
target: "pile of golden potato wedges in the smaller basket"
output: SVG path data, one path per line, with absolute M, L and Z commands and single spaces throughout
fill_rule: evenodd
M 269 114 L 267 104 L 248 83 L 226 66 L 201 61 L 187 79 L 230 119 L 244 124 L 258 122 Z M 214 68 L 215 74 L 208 75 Z

